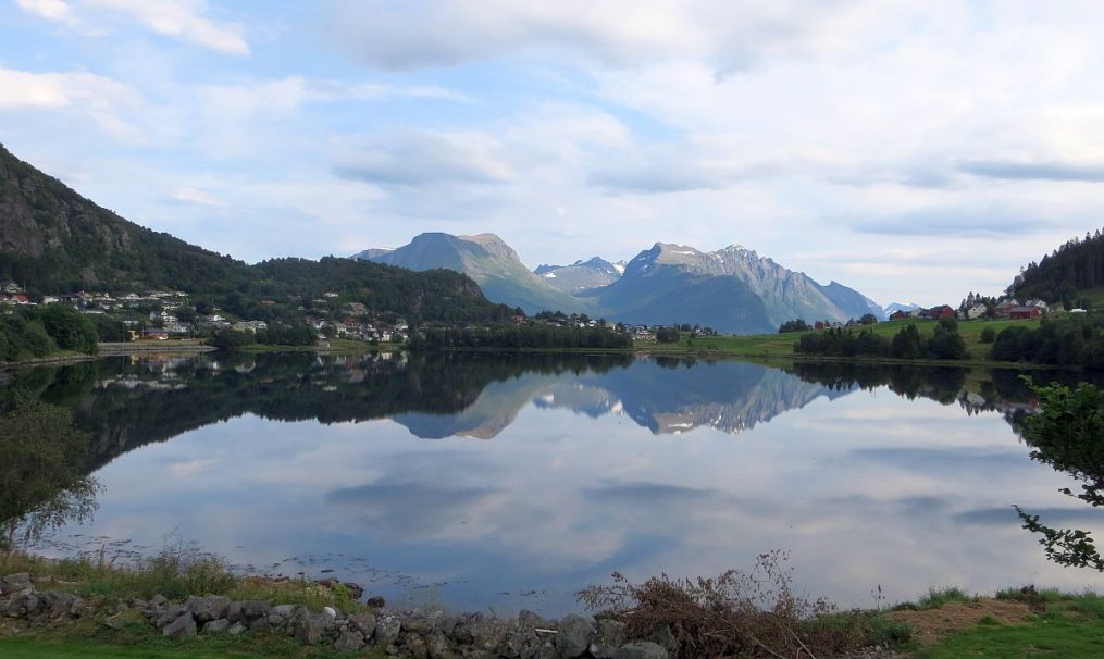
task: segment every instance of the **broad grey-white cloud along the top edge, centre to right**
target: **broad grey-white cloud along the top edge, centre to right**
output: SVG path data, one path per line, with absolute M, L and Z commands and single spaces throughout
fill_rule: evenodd
M 863 2 L 790 0 L 372 0 L 328 3 L 326 20 L 358 60 L 388 70 L 450 66 L 556 51 L 612 66 L 708 57 L 719 75 L 761 57 L 836 52 L 869 30 Z

